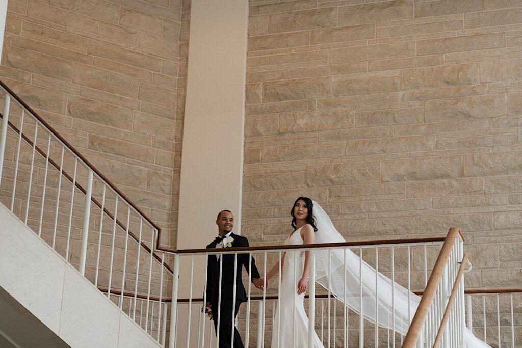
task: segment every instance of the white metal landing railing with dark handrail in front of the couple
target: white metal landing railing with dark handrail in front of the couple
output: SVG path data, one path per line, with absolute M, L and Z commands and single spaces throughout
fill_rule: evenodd
M 174 316 L 172 316 L 172 318 L 177 317 L 177 319 L 171 320 L 171 331 L 177 332 L 177 335 L 174 340 L 170 342 L 170 347 L 199 348 L 219 346 L 217 342 L 219 336 L 218 338 L 216 337 L 216 329 L 213 322 L 206 320 L 204 318 L 205 314 L 201 312 L 203 303 L 207 302 L 206 293 L 202 298 L 202 285 L 199 287 L 194 286 L 195 282 L 204 284 L 208 274 L 201 271 L 196 274 L 193 265 L 196 263 L 205 265 L 210 257 L 219 255 L 219 257 L 222 258 L 223 256 L 228 256 L 229 258 L 234 258 L 234 267 L 243 267 L 237 260 L 241 255 L 247 255 L 248 260 L 251 260 L 251 258 L 255 259 L 259 273 L 264 277 L 267 273 L 267 267 L 271 268 L 274 263 L 278 262 L 283 255 L 282 253 L 287 252 L 288 256 L 289 251 L 296 251 L 296 253 L 293 254 L 296 255 L 297 252 L 301 253 L 302 251 L 310 250 L 310 284 L 314 284 L 314 250 L 327 250 L 328 253 L 334 250 L 351 250 L 350 252 L 353 252 L 358 257 L 361 256 L 359 258 L 359 271 L 357 272 L 362 272 L 364 264 L 370 265 L 378 271 L 375 273 L 375 278 L 381 277 L 381 275 L 378 274 L 382 273 L 386 275 L 389 280 L 401 284 L 408 290 L 410 295 L 408 295 L 405 301 L 411 304 L 411 310 L 408 310 L 411 316 L 405 318 L 405 321 L 409 323 L 418 305 L 418 296 L 414 294 L 412 290 L 422 291 L 424 289 L 425 284 L 428 282 L 428 275 L 434 265 L 436 255 L 438 255 L 441 250 L 443 241 L 444 238 L 432 238 L 419 239 L 416 241 L 367 242 L 366 244 L 336 243 L 306 246 L 272 246 L 265 248 L 177 250 L 174 256 L 174 272 L 175 274 L 179 274 L 179 269 L 177 269 L 176 265 L 181 264 L 184 265 L 185 273 L 181 275 L 179 280 L 177 277 L 173 278 L 173 293 L 175 293 L 173 299 L 177 299 L 178 301 L 173 301 L 172 311 Z M 346 255 L 345 251 L 343 251 L 343 253 Z M 219 264 L 221 265 L 220 267 L 222 267 L 222 262 Z M 244 265 L 244 268 L 243 275 L 246 275 L 247 269 L 252 270 L 251 261 L 248 262 L 247 265 Z M 221 269 L 221 272 L 222 271 Z M 232 272 L 232 270 L 228 271 Z M 248 273 L 250 274 L 250 272 Z M 233 274 L 235 274 L 235 272 Z M 361 276 L 360 273 L 356 275 Z M 241 281 L 241 279 L 234 281 L 238 282 Z M 380 280 L 378 282 L 377 279 L 374 281 L 374 285 L 380 282 Z M 269 284 L 267 289 L 263 289 L 263 291 L 253 289 L 253 284 L 248 281 L 248 277 L 244 284 L 247 300 L 241 305 L 237 319 L 232 319 L 232 322 L 223 324 L 218 317 L 218 325 L 220 327 L 224 325 L 227 327 L 227 330 L 230 329 L 228 338 L 230 341 L 233 340 L 232 332 L 234 328 L 237 328 L 245 347 L 262 348 L 264 346 L 271 346 L 272 324 L 275 321 L 280 323 L 282 320 L 280 319 L 280 311 L 276 309 L 277 298 L 281 296 L 281 272 L 279 272 L 278 277 L 272 279 L 271 284 Z M 347 286 L 346 283 L 345 286 Z M 360 282 L 358 286 L 362 287 L 362 282 Z M 364 284 L 364 286 L 366 286 L 366 284 Z M 307 327 L 314 327 L 315 331 L 308 330 L 307 332 L 312 337 L 314 332 L 317 333 L 325 347 L 359 346 L 362 348 L 369 346 L 379 347 L 387 344 L 389 344 L 390 347 L 395 347 L 401 345 L 404 341 L 408 327 L 407 325 L 406 327 L 399 327 L 398 322 L 401 314 L 394 308 L 395 303 L 398 303 L 399 299 L 396 298 L 394 301 L 393 290 L 392 297 L 387 306 L 390 308 L 390 313 L 396 314 L 393 317 L 397 317 L 397 323 L 394 318 L 390 318 L 386 324 L 381 322 L 379 314 L 375 313 L 379 310 L 379 304 L 376 302 L 381 301 L 377 298 L 366 298 L 362 295 L 363 292 L 360 293 L 361 295 L 357 299 L 346 299 L 332 293 L 315 296 L 314 293 L 324 293 L 326 289 L 317 284 L 316 286 L 309 285 L 309 289 L 310 297 L 316 298 L 316 301 L 307 301 L 305 304 L 307 319 L 309 320 Z M 397 288 L 394 286 L 392 289 Z M 375 290 L 377 293 L 379 292 L 379 289 Z M 184 294 L 181 296 L 183 299 L 177 296 L 178 293 Z M 348 306 L 345 306 L 345 303 L 348 303 Z M 355 305 L 352 305 L 352 303 L 355 303 Z M 360 310 L 361 308 L 362 310 Z M 216 312 L 216 308 L 214 308 L 213 311 Z M 279 320 L 274 320 L 276 318 Z M 292 322 L 295 322 L 295 318 L 295 311 L 291 317 L 286 316 L 286 319 Z M 374 318 L 379 318 L 379 325 L 375 325 Z M 307 341 L 309 344 L 313 342 L 310 339 Z M 276 348 L 274 345 L 272 346 Z M 295 341 L 293 346 L 302 347 L 298 343 L 295 343 Z M 289 348 L 292 348 L 292 344 L 290 344 Z

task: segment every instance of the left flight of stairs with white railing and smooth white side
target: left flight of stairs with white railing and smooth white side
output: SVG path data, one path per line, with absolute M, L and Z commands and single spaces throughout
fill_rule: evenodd
M 14 314 L 27 309 L 42 328 L 32 340 L 50 346 L 164 345 L 172 271 L 153 251 L 160 229 L 2 82 L 0 90 L 5 303 Z M 0 331 L 7 346 L 35 346 L 23 343 L 31 328 Z

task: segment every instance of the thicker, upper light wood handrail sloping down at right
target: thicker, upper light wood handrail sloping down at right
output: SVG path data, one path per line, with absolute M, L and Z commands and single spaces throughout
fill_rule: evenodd
M 444 268 L 448 262 L 449 254 L 452 251 L 453 245 L 455 244 L 455 240 L 457 239 L 457 236 L 459 236 L 459 233 L 460 231 L 457 227 L 452 227 L 449 229 L 448 234 L 446 235 L 441 252 L 438 254 L 437 261 L 435 262 L 435 266 L 431 272 L 430 280 L 428 281 L 426 289 L 424 290 L 424 295 L 421 298 L 419 307 L 417 307 L 417 311 L 413 316 L 410 328 L 408 329 L 404 342 L 402 343 L 403 348 L 414 348 L 417 345 L 417 340 L 419 339 L 422 326 L 424 325 L 424 321 L 426 320 L 426 316 L 428 316 L 428 311 L 430 310 L 433 298 L 435 297 L 438 283 L 440 283 L 442 279 L 442 274 L 444 273 Z

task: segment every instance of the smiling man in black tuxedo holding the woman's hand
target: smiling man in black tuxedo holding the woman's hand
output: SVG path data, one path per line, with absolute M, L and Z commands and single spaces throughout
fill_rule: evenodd
M 218 225 L 219 237 L 216 237 L 207 248 L 226 248 L 248 246 L 248 239 L 232 233 L 234 227 L 234 215 L 230 210 L 220 211 L 216 220 Z M 234 273 L 233 254 L 209 255 L 207 263 L 207 311 L 211 311 L 212 320 L 216 334 L 219 335 L 219 348 L 232 347 L 232 325 L 235 316 L 238 314 L 239 306 L 246 301 L 245 287 L 241 279 L 243 266 L 248 272 L 248 254 L 238 254 L 236 272 Z M 221 290 L 219 290 L 219 269 L 222 262 Z M 252 283 L 258 288 L 263 289 L 263 281 L 257 271 L 254 258 L 252 258 L 252 271 L 250 272 Z M 235 286 L 235 305 L 234 305 L 234 278 Z M 233 314 L 232 314 L 232 306 Z M 219 333 L 218 333 L 218 306 L 219 311 Z M 238 330 L 234 327 L 234 348 L 243 348 L 243 342 Z

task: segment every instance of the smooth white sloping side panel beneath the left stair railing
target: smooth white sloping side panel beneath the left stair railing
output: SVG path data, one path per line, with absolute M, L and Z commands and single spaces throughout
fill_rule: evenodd
M 0 221 L 0 287 L 57 337 L 75 348 L 159 347 L 2 204 Z

